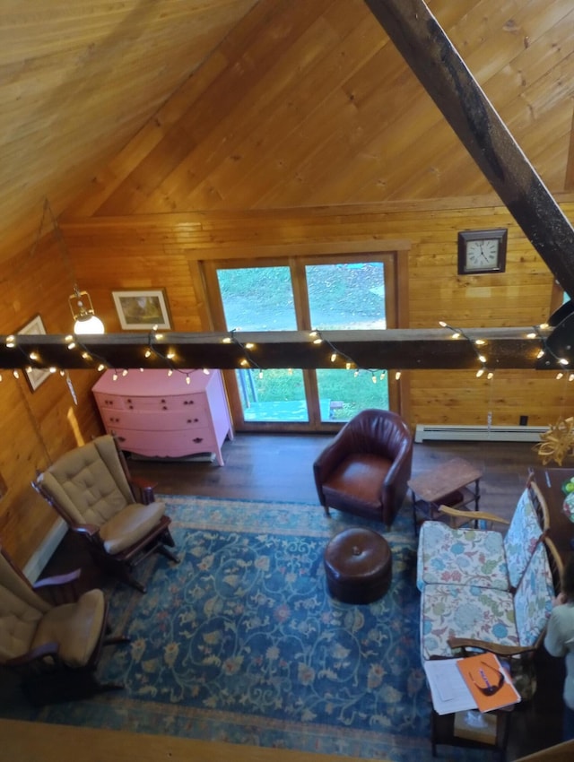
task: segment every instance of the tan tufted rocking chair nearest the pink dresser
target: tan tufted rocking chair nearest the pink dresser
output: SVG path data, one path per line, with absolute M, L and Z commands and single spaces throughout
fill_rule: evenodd
M 97 437 L 65 453 L 32 486 L 55 507 L 70 529 L 88 541 L 96 563 L 145 592 L 132 574 L 152 552 L 178 559 L 165 506 L 151 484 L 130 480 L 114 437 Z

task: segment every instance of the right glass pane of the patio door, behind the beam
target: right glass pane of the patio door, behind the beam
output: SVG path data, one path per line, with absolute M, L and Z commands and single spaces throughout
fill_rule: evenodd
M 311 326 L 317 330 L 387 327 L 382 262 L 306 266 Z M 321 420 L 350 420 L 369 407 L 388 410 L 387 373 L 380 368 L 317 369 Z

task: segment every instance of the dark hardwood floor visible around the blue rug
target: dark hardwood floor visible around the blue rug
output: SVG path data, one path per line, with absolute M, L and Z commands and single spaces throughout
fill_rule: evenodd
M 225 465 L 216 463 L 129 460 L 134 476 L 157 482 L 156 492 L 221 498 L 287 500 L 317 506 L 312 463 L 332 435 L 239 434 L 223 446 Z M 463 457 L 483 469 L 481 507 L 510 518 L 524 489 L 528 466 L 539 464 L 530 444 L 440 442 L 414 446 L 413 475 L 437 463 Z M 74 538 L 66 535 L 45 574 L 81 562 L 86 579 L 97 584 L 97 571 Z M 544 749 L 561 740 L 563 664 L 540 649 L 536 657 L 538 689 L 532 701 L 512 713 L 508 759 Z M 445 749 L 439 747 L 443 756 Z M 490 755 L 489 755 L 490 756 Z

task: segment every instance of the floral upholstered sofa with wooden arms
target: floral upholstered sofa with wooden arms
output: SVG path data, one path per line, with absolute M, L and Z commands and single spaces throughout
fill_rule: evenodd
M 479 516 L 496 518 L 473 514 Z M 422 524 L 417 585 L 423 661 L 453 657 L 461 648 L 503 655 L 535 650 L 559 576 L 544 537 L 547 526 L 544 498 L 534 482 L 518 499 L 504 535 L 435 521 Z

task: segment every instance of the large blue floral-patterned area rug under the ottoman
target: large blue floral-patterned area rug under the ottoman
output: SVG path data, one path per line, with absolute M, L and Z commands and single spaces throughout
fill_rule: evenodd
M 323 551 L 351 516 L 291 503 L 161 496 L 181 562 L 154 555 L 148 588 L 106 590 L 114 630 L 102 680 L 126 689 L 12 716 L 326 754 L 431 759 L 419 657 L 416 541 L 406 508 L 390 530 L 387 594 L 333 600 Z M 3 714 L 6 714 L 5 712 Z M 440 747 L 440 758 L 482 759 Z

